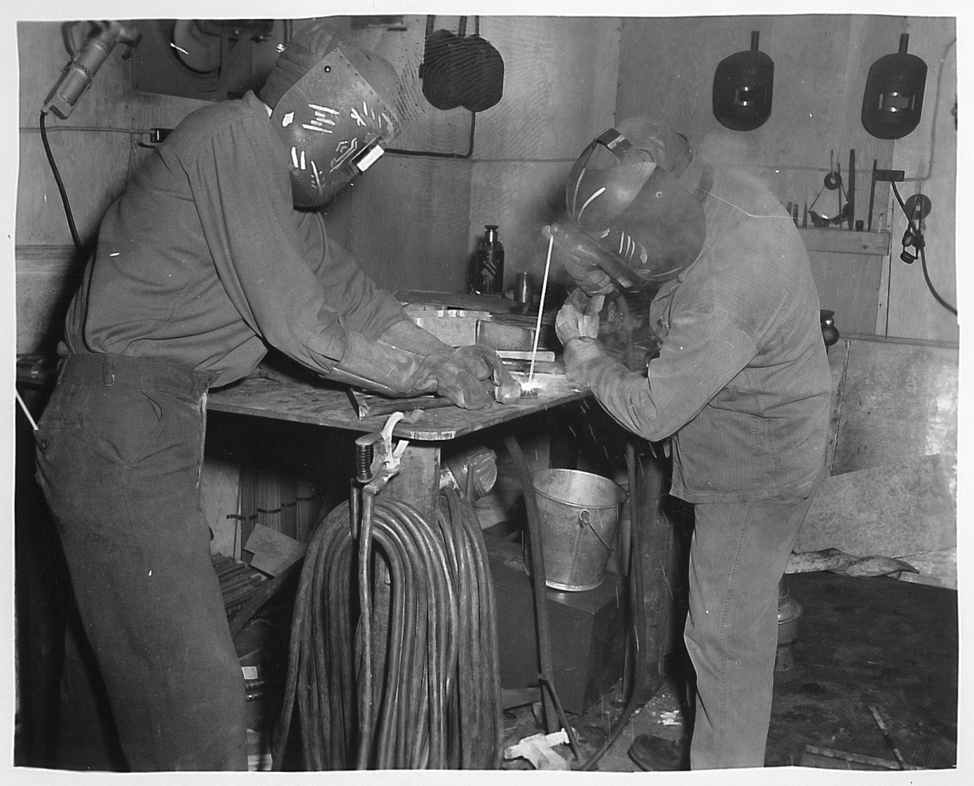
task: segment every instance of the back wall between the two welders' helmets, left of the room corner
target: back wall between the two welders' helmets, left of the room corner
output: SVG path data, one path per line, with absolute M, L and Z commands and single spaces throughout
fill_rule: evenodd
M 470 115 L 422 98 L 424 19 L 407 22 L 373 43 L 404 75 L 415 106 L 393 148 L 464 153 Z M 456 29 L 456 19 L 437 17 L 435 26 Z M 389 288 L 466 291 L 486 223 L 502 227 L 510 285 L 537 262 L 540 228 L 563 206 L 571 163 L 613 121 L 618 19 L 483 17 L 480 34 L 504 57 L 505 91 L 477 114 L 472 156 L 390 154 L 327 208 L 333 236 Z

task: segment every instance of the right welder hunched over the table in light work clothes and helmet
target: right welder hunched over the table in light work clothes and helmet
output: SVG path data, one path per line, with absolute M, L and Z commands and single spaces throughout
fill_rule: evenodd
M 831 378 L 805 246 L 763 184 L 694 158 L 648 117 L 598 136 L 566 199 L 571 220 L 552 231 L 581 287 L 556 320 L 568 374 L 626 429 L 668 441 L 670 493 L 693 503 L 691 766 L 763 767 L 778 581 L 827 439 Z M 606 354 L 589 297 L 656 286 L 660 345 L 641 374 Z

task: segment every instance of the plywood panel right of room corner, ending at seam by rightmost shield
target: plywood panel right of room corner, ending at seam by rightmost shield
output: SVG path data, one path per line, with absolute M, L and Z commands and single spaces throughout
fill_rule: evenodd
M 850 148 L 860 171 L 874 159 L 889 166 L 892 142 L 870 136 L 859 114 L 869 65 L 895 51 L 903 26 L 894 17 L 835 15 L 624 19 L 618 115 L 659 114 L 715 162 L 751 168 L 783 202 L 810 204 L 833 160 L 847 172 Z M 714 71 L 750 48 L 754 30 L 774 61 L 772 111 L 755 131 L 730 131 L 713 114 Z M 857 178 L 860 195 L 868 180 Z M 827 196 L 816 209 L 832 215 L 838 200 Z

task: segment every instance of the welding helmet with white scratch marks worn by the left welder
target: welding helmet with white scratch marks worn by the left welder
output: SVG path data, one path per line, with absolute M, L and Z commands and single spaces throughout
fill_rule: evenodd
M 388 61 L 323 25 L 287 43 L 259 93 L 290 158 L 298 207 L 325 206 L 398 134 L 398 76 Z

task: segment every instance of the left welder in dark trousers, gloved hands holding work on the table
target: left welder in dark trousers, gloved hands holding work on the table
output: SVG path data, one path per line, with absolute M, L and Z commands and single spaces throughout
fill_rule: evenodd
M 81 618 L 129 765 L 246 768 L 244 682 L 199 488 L 206 390 L 268 345 L 393 395 L 492 400 L 318 208 L 399 130 L 385 60 L 312 26 L 259 94 L 190 114 L 108 209 L 37 432 Z

